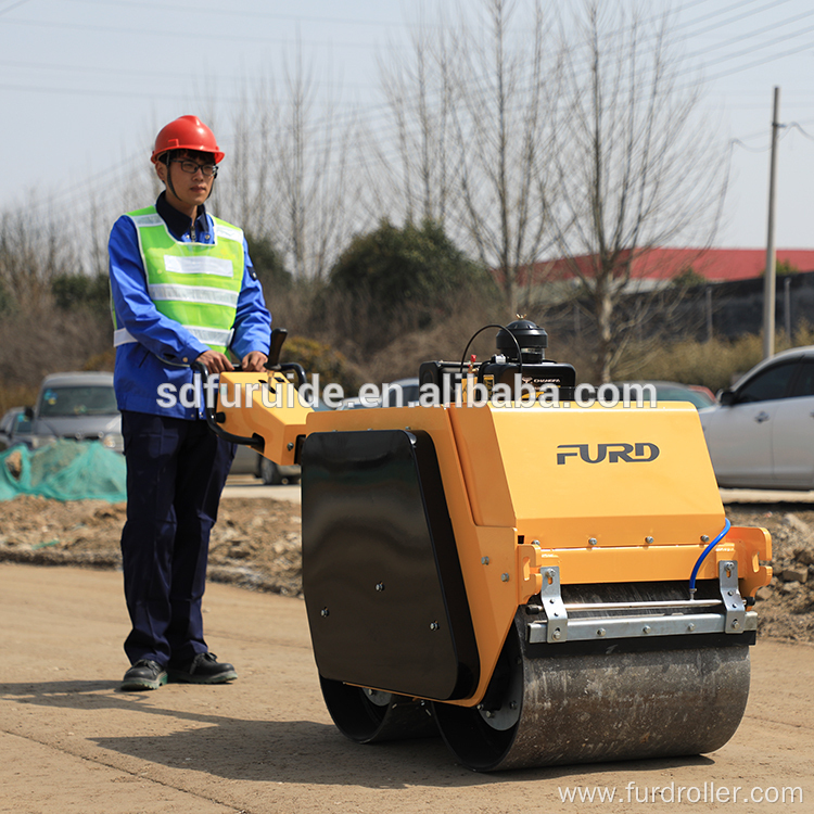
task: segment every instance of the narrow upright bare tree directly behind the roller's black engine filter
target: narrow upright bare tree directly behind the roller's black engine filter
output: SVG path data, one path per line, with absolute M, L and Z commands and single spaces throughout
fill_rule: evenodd
M 511 34 L 514 0 L 482 0 L 485 38 L 465 29 L 456 109 L 460 222 L 484 264 L 498 269 L 509 316 L 527 305 L 526 271 L 548 246 L 545 206 L 559 62 L 544 8 Z M 517 21 L 520 23 L 521 21 Z

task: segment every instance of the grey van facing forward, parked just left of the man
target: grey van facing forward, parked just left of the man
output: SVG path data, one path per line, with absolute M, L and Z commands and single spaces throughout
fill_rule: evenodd
M 56 438 L 72 438 L 101 441 L 109 449 L 124 451 L 113 373 L 47 376 L 40 384 L 37 404 L 26 407 L 25 415 L 30 420 L 28 446 L 39 447 Z

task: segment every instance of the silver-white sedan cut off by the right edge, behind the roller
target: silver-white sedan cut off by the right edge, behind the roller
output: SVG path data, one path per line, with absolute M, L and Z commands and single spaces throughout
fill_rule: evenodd
M 814 345 L 752 368 L 699 411 L 720 486 L 814 489 Z

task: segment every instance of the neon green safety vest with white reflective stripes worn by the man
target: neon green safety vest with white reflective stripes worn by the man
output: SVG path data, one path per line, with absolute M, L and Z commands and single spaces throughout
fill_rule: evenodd
M 185 243 L 169 233 L 154 206 L 128 217 L 136 225 L 155 307 L 213 351 L 226 353 L 243 283 L 243 232 L 213 218 L 214 243 Z M 126 329 L 114 327 L 114 345 L 137 341 Z

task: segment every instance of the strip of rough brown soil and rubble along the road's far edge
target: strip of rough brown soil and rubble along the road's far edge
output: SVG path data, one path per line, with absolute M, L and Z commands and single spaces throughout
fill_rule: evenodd
M 807 504 L 732 504 L 733 525 L 768 529 L 775 577 L 758 595 L 760 633 L 814 643 L 814 510 Z M 806 507 L 803 509 L 803 507 Z M 302 596 L 300 506 L 224 499 L 213 531 L 209 578 Z M 0 509 L 0 561 L 118 568 L 124 504 L 17 497 Z

